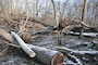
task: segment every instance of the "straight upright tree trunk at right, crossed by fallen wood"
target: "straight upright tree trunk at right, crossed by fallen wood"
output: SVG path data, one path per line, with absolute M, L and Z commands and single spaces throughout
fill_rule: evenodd
M 82 22 L 85 22 L 85 14 L 86 14 L 86 12 L 87 12 L 87 0 L 84 0 Z M 84 25 L 82 24 L 82 28 L 81 28 L 81 32 L 79 32 L 79 38 L 83 38 L 83 32 L 84 32 Z

